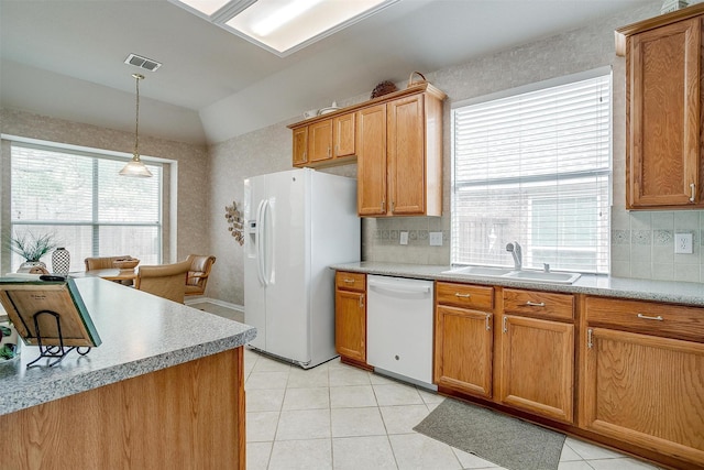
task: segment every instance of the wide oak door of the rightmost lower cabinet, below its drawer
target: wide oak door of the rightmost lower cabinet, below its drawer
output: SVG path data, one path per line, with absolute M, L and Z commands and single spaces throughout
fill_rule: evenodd
M 704 345 L 587 330 L 581 425 L 704 464 Z

